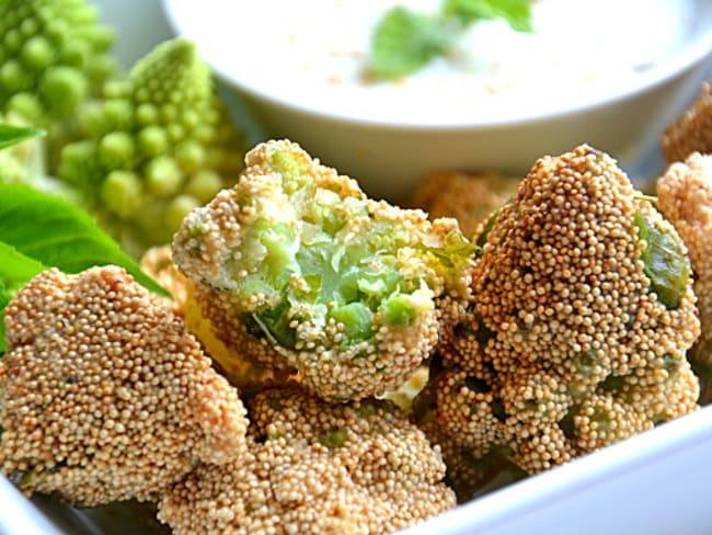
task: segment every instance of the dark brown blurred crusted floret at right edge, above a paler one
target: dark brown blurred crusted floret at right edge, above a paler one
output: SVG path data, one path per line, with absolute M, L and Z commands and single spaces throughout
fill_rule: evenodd
M 663 155 L 668 163 L 685 161 L 692 152 L 712 153 L 712 83 L 663 133 Z

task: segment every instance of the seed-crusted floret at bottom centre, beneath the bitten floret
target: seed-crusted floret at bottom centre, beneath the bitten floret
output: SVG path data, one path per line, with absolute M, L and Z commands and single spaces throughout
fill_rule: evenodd
M 248 405 L 249 454 L 198 466 L 160 500 L 176 535 L 378 535 L 455 505 L 439 449 L 388 402 L 329 405 L 290 387 Z

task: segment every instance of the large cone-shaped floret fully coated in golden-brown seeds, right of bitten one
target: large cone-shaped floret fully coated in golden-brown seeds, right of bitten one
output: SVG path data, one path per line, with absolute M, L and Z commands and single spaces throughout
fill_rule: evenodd
M 434 418 L 537 473 L 696 410 L 687 249 L 615 160 L 541 158 L 496 214 L 443 343 Z

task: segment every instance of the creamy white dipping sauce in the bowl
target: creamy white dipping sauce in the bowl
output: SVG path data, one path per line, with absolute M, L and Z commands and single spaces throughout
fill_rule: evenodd
M 634 87 L 694 23 L 692 0 L 538 0 L 531 34 L 481 21 L 447 57 L 366 83 L 372 29 L 395 4 L 434 13 L 440 0 L 203 0 L 210 15 L 186 35 L 219 72 L 279 100 L 364 121 L 452 124 L 544 114 Z

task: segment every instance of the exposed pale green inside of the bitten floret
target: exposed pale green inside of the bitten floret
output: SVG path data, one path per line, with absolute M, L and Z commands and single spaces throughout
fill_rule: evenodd
M 415 287 L 397 254 L 407 243 L 403 225 L 372 217 L 361 197 L 318 187 L 289 153 L 273 155 L 272 164 L 288 198 L 279 208 L 289 217 L 255 220 L 232 266 L 248 273 L 239 291 L 243 303 L 260 295 L 271 304 L 253 310 L 252 321 L 289 349 L 298 342 L 295 320 L 343 325 L 344 345 L 371 339 L 377 312 L 382 325 L 411 325 L 417 316 Z

